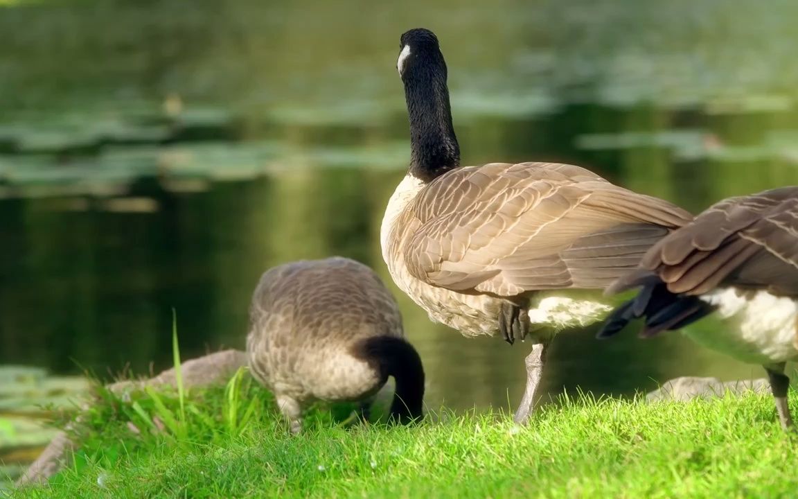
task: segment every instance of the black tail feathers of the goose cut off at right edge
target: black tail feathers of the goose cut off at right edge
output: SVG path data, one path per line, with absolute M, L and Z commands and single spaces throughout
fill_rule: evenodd
M 643 319 L 645 323 L 640 337 L 650 338 L 662 331 L 681 329 L 715 311 L 715 307 L 697 296 L 671 293 L 666 283 L 650 273 L 638 274 L 637 279 L 626 283 L 639 286 L 638 295 L 610 312 L 596 338 L 616 335 L 634 319 Z

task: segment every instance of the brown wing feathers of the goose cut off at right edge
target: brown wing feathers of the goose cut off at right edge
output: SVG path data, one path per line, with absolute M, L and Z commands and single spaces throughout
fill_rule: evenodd
M 798 295 L 798 187 L 713 204 L 654 244 L 640 266 L 658 273 L 674 293 L 736 285 Z M 627 280 L 607 291 L 621 291 Z

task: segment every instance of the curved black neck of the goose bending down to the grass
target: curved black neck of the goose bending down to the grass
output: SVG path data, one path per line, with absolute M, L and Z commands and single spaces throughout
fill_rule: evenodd
M 423 418 L 424 366 L 413 345 L 393 336 L 366 339 L 355 355 L 372 362 L 387 378 L 393 376 L 396 390 L 390 408 L 390 417 L 400 423 Z

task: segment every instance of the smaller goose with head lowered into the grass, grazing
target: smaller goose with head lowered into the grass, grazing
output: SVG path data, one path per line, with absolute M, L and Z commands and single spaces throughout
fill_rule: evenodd
M 361 402 L 389 376 L 397 422 L 420 419 L 424 369 L 405 341 L 396 300 L 377 274 L 342 257 L 286 263 L 265 272 L 252 296 L 247 354 L 252 373 L 302 429 L 311 402 Z

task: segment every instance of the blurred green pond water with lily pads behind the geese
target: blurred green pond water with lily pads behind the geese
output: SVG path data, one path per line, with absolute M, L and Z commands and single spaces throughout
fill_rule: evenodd
M 0 364 L 160 370 L 172 308 L 184 358 L 243 347 L 262 271 L 337 254 L 396 292 L 430 406 L 511 406 L 530 346 L 430 323 L 381 260 L 409 158 L 399 35 L 437 32 L 464 164 L 572 162 L 699 211 L 798 181 L 796 19 L 794 0 L 0 0 Z M 559 336 L 552 394 L 761 374 L 678 334 L 594 333 Z M 38 400 L 22 378 L 0 411 Z

